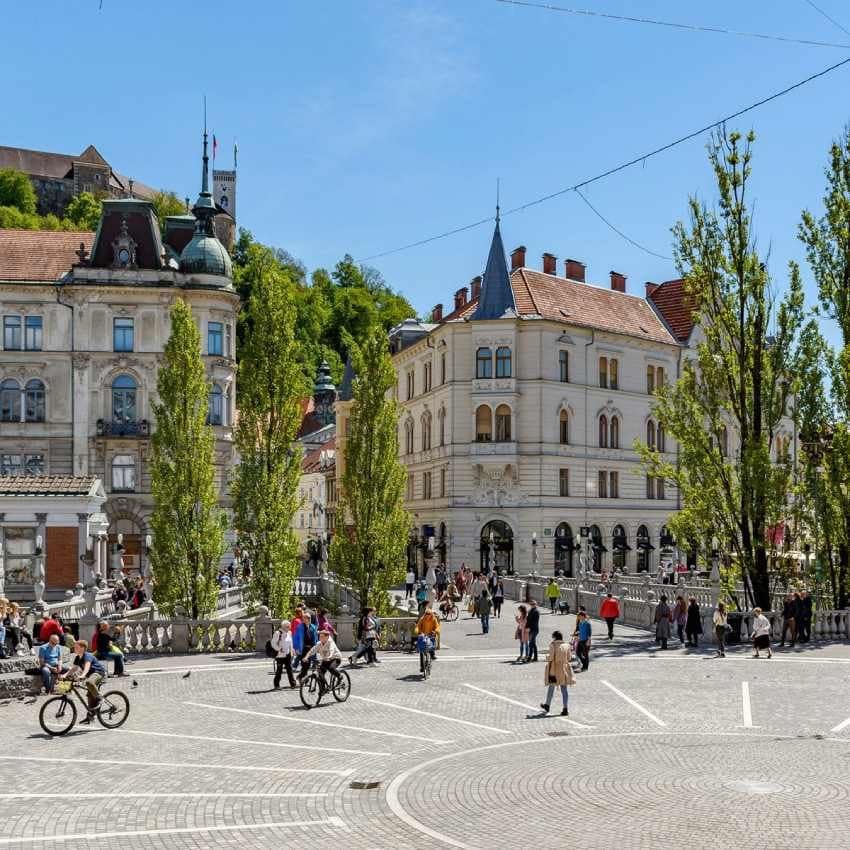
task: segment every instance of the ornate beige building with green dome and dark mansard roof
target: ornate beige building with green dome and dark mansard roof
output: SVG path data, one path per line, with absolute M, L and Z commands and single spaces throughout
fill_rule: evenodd
M 104 201 L 94 234 L 0 231 L 0 474 L 102 479 L 109 557 L 120 535 L 131 569 L 146 565 L 152 404 L 177 298 L 201 334 L 226 504 L 238 297 L 215 214 L 205 138 L 193 215 L 163 235 L 137 198 Z

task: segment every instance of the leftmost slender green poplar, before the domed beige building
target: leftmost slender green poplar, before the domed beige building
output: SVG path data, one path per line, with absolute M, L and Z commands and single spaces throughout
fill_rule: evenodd
M 168 615 L 192 619 L 215 608 L 216 575 L 224 553 L 224 517 L 218 507 L 214 435 L 207 424 L 210 385 L 201 338 L 183 300 L 171 310 L 171 336 L 157 377 L 151 439 L 151 567 L 154 600 Z

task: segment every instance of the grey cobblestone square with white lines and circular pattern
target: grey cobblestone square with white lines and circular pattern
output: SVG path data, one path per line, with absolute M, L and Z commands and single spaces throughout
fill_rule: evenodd
M 542 658 L 574 620 L 541 625 Z M 847 846 L 847 646 L 716 659 L 594 623 L 569 718 L 559 695 L 542 718 L 512 609 L 480 631 L 444 625 L 427 682 L 386 654 L 351 672 L 348 703 L 310 711 L 234 655 L 137 661 L 109 682 L 132 702 L 118 731 L 49 739 L 41 699 L 0 707 L 0 850 Z

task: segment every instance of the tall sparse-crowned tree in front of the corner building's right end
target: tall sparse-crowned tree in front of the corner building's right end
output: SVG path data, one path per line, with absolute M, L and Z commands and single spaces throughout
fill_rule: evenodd
M 792 388 L 789 368 L 803 318 L 799 269 L 778 301 L 756 249 L 748 209 L 751 145 L 725 132 L 709 147 L 718 207 L 689 202 L 675 254 L 701 340 L 682 377 L 658 392 L 657 416 L 678 443 L 678 463 L 639 446 L 650 475 L 679 488 L 671 526 L 684 541 L 716 535 L 738 560 L 756 605 L 770 608 L 769 527 L 786 518 L 790 458 L 774 463 Z M 724 450 L 728 444 L 729 451 Z M 724 547 L 725 548 L 725 547 Z

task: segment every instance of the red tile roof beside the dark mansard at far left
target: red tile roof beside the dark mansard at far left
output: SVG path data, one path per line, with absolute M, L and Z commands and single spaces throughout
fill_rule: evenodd
M 0 280 L 59 280 L 93 240 L 88 230 L 0 230 Z

